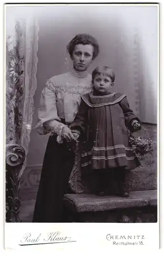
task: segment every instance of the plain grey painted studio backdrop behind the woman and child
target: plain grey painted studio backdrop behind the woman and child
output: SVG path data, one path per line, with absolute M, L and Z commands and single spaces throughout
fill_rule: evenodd
M 8 7 L 6 15 L 8 34 L 10 24 L 14 24 L 16 19 L 26 18 L 27 25 L 31 17 L 33 22 L 29 31 L 33 46 L 30 51 L 36 54 L 33 60 L 37 59 L 33 73 L 36 75 L 36 82 L 33 83 L 33 92 L 28 94 L 32 98 L 34 95 L 34 101 L 30 100 L 28 103 L 30 112 L 24 112 L 26 117 L 31 117 L 30 121 L 24 120 L 32 129 L 25 126 L 24 135 L 21 135 L 24 136 L 21 137 L 22 142 L 23 138 L 29 136 L 25 143 L 27 157 L 21 190 L 34 193 L 35 200 L 49 136 L 41 136 L 33 129 L 37 124 L 40 95 L 48 78 L 71 68 L 66 46 L 76 34 L 89 33 L 100 45 L 100 54 L 89 72 L 101 65 L 112 67 L 116 74 L 113 92 L 126 94 L 131 109 L 143 122 L 157 124 L 157 7 Z M 28 35 L 27 33 L 26 38 Z M 25 90 L 30 92 L 32 89 Z

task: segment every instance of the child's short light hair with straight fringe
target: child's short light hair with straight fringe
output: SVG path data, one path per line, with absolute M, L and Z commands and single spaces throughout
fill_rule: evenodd
M 115 81 L 115 72 L 112 68 L 102 66 L 102 67 L 97 67 L 93 72 L 92 72 L 92 82 L 94 81 L 94 78 L 96 75 L 101 75 L 104 74 L 108 77 L 111 78 L 112 82 Z

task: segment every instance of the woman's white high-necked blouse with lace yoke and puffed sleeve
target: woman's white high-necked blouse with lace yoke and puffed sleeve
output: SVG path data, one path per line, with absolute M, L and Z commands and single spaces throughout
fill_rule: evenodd
M 71 123 L 78 111 L 80 96 L 92 89 L 91 75 L 87 72 L 77 72 L 74 69 L 65 74 L 53 76 L 47 80 L 41 93 L 38 109 L 39 134 L 50 131 L 60 135 L 61 119 Z

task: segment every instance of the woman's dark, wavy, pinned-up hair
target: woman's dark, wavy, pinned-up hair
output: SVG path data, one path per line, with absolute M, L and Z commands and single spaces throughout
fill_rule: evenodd
M 67 50 L 69 52 L 70 57 L 72 57 L 72 53 L 75 45 L 92 45 L 94 47 L 93 58 L 95 59 L 99 53 L 99 45 L 97 40 L 89 34 L 78 34 L 76 35 L 67 45 Z

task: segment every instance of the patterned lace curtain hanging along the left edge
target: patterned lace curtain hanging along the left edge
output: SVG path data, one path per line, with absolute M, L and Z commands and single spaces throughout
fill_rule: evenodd
M 37 88 L 38 23 L 31 16 L 6 20 L 6 144 L 28 153 Z M 25 168 L 24 162 L 20 176 Z

